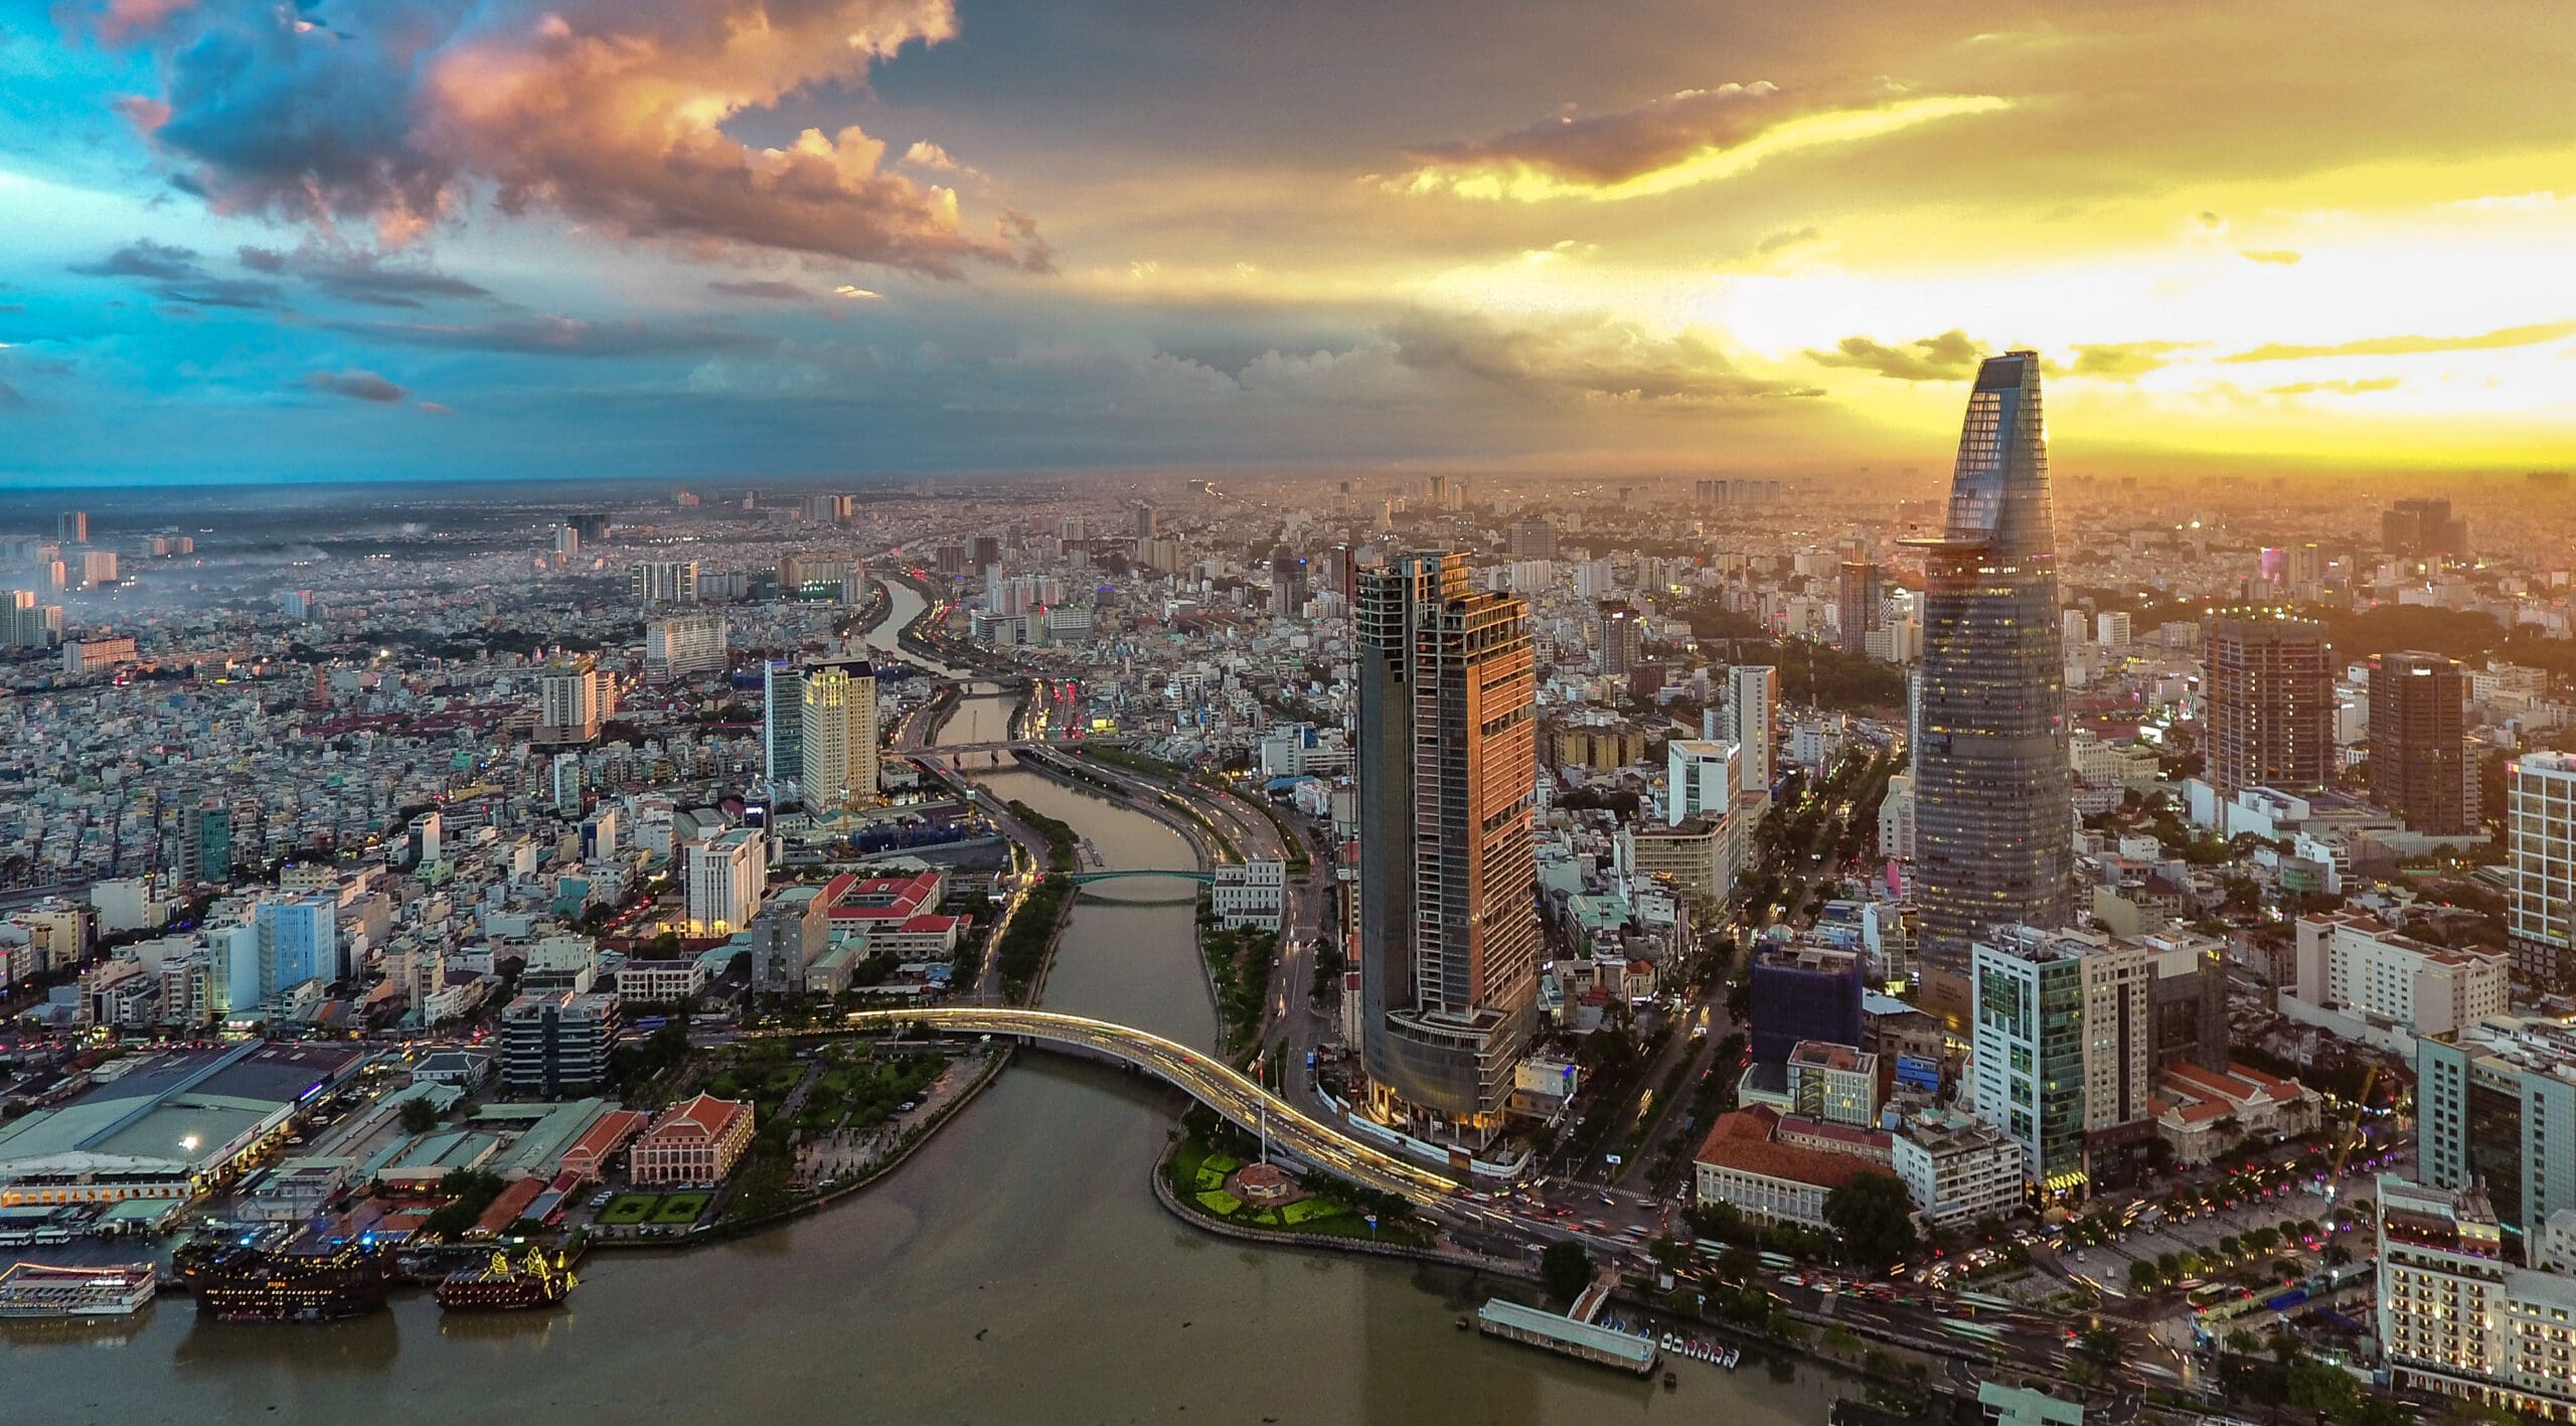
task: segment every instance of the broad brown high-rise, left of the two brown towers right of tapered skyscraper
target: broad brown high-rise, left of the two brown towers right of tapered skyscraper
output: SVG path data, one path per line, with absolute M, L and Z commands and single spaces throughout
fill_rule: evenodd
M 2210 623 L 2210 785 L 2306 790 L 2334 777 L 2334 672 L 2326 625 L 2275 613 Z

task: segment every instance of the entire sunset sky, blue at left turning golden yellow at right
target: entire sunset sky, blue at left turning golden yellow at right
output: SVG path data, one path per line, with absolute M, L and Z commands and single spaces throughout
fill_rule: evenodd
M 2576 450 L 2576 13 L 0 0 L 0 484 Z

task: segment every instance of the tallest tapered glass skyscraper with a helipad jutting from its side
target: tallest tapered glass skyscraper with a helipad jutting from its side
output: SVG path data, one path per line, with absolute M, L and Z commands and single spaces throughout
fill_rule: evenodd
M 1981 927 L 2069 916 L 2074 806 L 2038 353 L 1978 368 L 1947 528 L 1906 543 L 1924 551 L 1914 888 L 1924 963 L 1955 976 Z

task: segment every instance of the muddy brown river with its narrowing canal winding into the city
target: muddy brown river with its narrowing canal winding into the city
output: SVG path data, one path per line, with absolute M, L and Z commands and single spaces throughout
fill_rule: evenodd
M 891 636 L 889 636 L 891 638 Z M 987 741 L 1007 695 L 969 698 Z M 1110 867 L 1185 867 L 1144 813 L 999 770 Z M 1208 1042 L 1190 906 L 1084 901 L 1046 1004 Z M 1172 1220 L 1149 1171 L 1170 1091 L 1028 1053 L 884 1184 L 690 1254 L 592 1254 L 567 1310 L 343 1326 L 198 1320 L 0 1333 L 0 1421 L 1821 1421 L 1816 1369 L 1682 1362 L 1682 1387 L 1461 1333 L 1453 1272 L 1257 1248 Z M 118 1336 L 121 1333 L 121 1336 Z M 273 1416 L 270 1416 L 273 1413 Z

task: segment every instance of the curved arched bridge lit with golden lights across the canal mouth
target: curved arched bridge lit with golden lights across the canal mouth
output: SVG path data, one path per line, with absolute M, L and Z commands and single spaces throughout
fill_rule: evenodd
M 1216 1055 L 1164 1040 L 1162 1035 L 1128 1030 L 1126 1024 L 1046 1009 L 976 1006 L 873 1009 L 853 1014 L 850 1024 L 860 1030 L 922 1024 L 943 1035 L 1010 1035 L 1030 1045 L 1108 1055 L 1188 1091 L 1190 1099 L 1198 1099 L 1244 1130 L 1260 1133 L 1267 1122 L 1270 1140 L 1285 1153 L 1355 1184 L 1404 1194 L 1422 1205 L 1450 1199 L 1455 1192 L 1450 1179 L 1430 1169 L 1370 1148 L 1321 1120 L 1309 1120 Z

